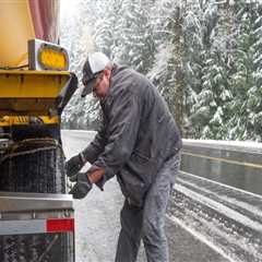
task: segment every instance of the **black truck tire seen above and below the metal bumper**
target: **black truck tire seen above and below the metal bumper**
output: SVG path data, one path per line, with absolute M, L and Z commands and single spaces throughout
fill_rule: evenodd
M 15 142 L 0 159 L 0 191 L 66 193 L 64 156 L 53 139 Z M 56 245 L 49 249 L 57 237 Z M 1 262 L 69 262 L 69 236 L 43 234 L 0 237 Z

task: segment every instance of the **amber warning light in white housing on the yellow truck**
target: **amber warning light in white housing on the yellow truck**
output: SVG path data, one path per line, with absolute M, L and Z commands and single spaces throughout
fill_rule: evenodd
M 61 46 L 33 39 L 28 40 L 29 70 L 69 70 L 69 56 Z

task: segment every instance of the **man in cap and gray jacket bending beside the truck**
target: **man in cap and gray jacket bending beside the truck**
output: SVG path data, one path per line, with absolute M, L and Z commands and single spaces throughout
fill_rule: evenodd
M 100 52 L 83 68 L 82 96 L 99 98 L 103 126 L 94 141 L 66 165 L 69 177 L 79 172 L 71 193 L 84 198 L 92 184 L 102 190 L 117 176 L 126 201 L 116 262 L 134 262 L 141 239 L 148 262 L 168 262 L 165 213 L 179 169 L 181 139 L 156 87 L 140 73 L 112 64 Z

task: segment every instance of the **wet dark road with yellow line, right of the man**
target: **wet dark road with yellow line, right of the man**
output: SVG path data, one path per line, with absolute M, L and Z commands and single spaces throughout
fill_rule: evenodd
M 262 144 L 183 140 L 181 170 L 262 194 Z

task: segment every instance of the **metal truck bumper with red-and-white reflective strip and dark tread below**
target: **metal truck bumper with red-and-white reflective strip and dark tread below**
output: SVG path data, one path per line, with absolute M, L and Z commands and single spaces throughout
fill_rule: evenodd
M 71 195 L 0 192 L 0 261 L 74 262 Z

